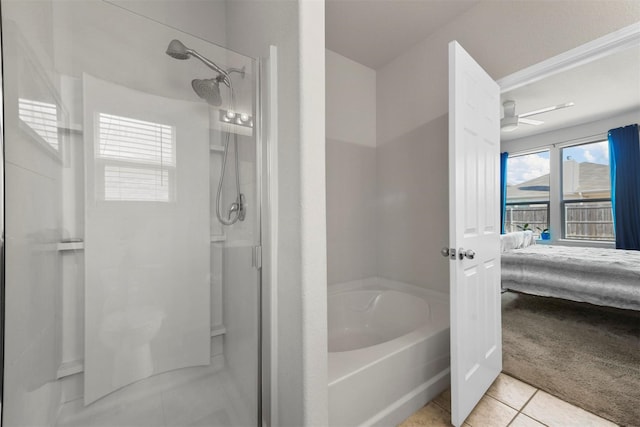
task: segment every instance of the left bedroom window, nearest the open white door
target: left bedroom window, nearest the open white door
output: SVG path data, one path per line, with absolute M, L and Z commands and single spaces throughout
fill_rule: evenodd
M 506 232 L 549 228 L 549 150 L 507 159 Z

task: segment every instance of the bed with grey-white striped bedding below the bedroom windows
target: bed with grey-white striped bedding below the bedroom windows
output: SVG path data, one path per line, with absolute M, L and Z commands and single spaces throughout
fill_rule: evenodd
M 511 233 L 510 233 L 511 234 Z M 640 251 L 504 244 L 502 288 L 640 310 Z

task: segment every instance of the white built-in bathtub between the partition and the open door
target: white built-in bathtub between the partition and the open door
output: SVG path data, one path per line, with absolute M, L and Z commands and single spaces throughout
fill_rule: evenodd
M 370 278 L 328 298 L 330 426 L 395 426 L 449 386 L 446 294 Z

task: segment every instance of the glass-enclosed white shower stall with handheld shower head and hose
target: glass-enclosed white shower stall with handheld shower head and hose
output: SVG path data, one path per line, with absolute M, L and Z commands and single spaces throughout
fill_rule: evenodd
M 2 426 L 261 421 L 259 62 L 2 0 Z

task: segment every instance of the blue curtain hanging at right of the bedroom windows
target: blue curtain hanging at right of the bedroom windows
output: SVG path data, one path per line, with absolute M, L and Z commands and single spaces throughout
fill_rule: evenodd
M 616 248 L 640 250 L 640 138 L 637 124 L 609 131 L 609 162 Z

